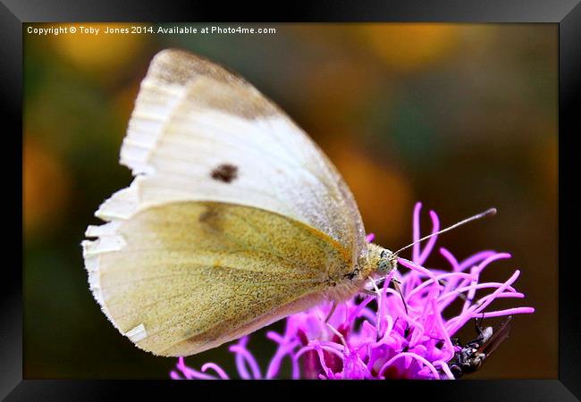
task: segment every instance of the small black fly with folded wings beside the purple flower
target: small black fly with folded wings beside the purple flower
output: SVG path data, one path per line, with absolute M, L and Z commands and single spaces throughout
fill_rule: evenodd
M 464 345 L 449 362 L 450 371 L 454 374 L 454 378 L 459 379 L 464 374 L 474 373 L 484 364 L 484 361 L 501 345 L 504 339 L 509 338 L 511 319 L 512 316 L 509 315 L 496 329 L 493 327 L 482 328 L 476 319 L 478 337 Z

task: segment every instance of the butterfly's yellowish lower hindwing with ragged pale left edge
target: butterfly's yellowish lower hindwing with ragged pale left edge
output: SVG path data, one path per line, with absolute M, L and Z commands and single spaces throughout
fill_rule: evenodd
M 319 230 L 215 202 L 148 208 L 85 243 L 85 258 L 105 314 L 162 356 L 215 348 L 312 306 L 350 264 Z

